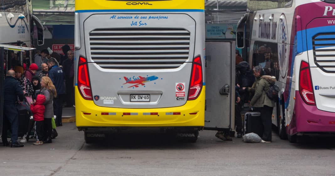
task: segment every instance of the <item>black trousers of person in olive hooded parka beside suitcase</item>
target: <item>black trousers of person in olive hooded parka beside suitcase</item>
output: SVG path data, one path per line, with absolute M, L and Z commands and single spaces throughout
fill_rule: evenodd
M 264 132 L 262 140 L 272 142 L 272 111 L 273 107 L 264 105 L 261 111 L 261 119 L 264 126 Z

